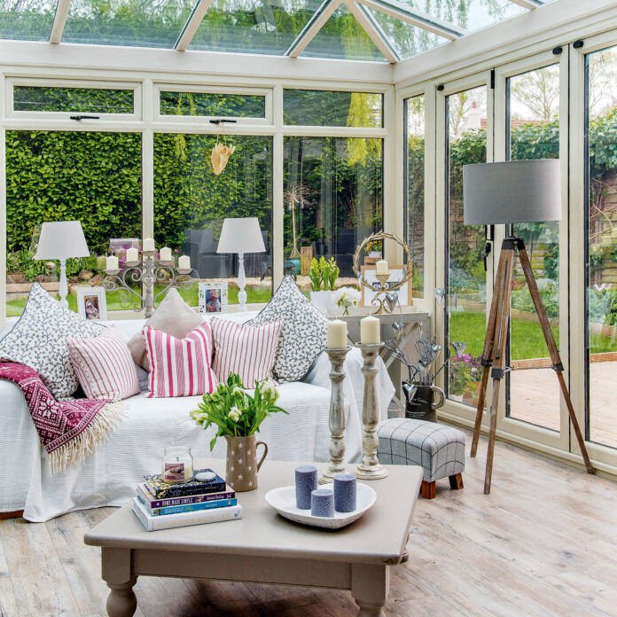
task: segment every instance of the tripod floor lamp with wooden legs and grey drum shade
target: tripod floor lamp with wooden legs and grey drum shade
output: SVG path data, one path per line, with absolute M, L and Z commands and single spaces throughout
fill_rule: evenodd
M 488 313 L 487 335 L 481 356 L 482 381 L 476 410 L 471 456 L 475 457 L 480 438 L 480 426 L 489 376 L 493 379 L 493 398 L 489 407 L 487 468 L 484 478 L 484 493 L 490 493 L 495 451 L 495 433 L 499 389 L 506 371 L 506 348 L 510 325 L 510 301 L 512 294 L 512 271 L 515 251 L 519 253 L 520 266 L 534 301 L 546 346 L 551 355 L 552 368 L 557 373 L 559 387 L 566 402 L 574 434 L 581 449 L 588 473 L 595 473 L 585 447 L 581 427 L 574 414 L 570 393 L 566 386 L 559 350 L 551 331 L 549 318 L 535 282 L 522 238 L 513 235 L 513 223 L 541 223 L 561 219 L 561 178 L 559 160 L 513 160 L 501 163 L 480 163 L 463 167 L 463 201 L 465 225 L 506 225 L 506 238 L 499 255 L 493 300 Z

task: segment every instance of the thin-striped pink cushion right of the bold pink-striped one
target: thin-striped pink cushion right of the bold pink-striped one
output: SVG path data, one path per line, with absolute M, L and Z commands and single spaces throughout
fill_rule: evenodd
M 214 318 L 211 323 L 215 339 L 213 366 L 219 381 L 238 373 L 242 385 L 252 389 L 256 381 L 271 379 L 282 321 L 251 326 Z

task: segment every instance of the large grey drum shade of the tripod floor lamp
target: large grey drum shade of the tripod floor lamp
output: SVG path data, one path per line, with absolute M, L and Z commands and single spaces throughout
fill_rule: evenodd
M 561 220 L 558 159 L 463 166 L 465 225 Z

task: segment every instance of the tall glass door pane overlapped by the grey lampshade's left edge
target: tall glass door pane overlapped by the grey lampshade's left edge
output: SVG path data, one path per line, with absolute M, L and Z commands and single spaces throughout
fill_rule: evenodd
M 452 94 L 446 99 L 447 298 L 446 342 L 450 346 L 448 395 L 477 403 L 480 355 L 486 332 L 484 227 L 463 223 L 463 166 L 487 160 L 487 89 Z

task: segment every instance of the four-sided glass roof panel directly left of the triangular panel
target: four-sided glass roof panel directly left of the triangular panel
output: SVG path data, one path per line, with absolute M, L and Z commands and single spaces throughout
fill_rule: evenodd
M 189 49 L 282 56 L 320 4 L 320 0 L 215 0 Z

